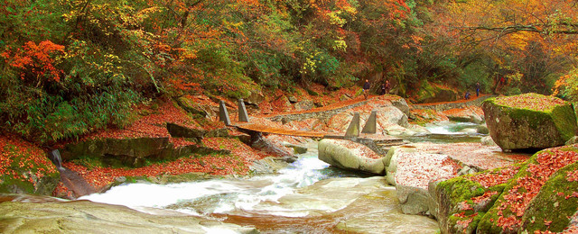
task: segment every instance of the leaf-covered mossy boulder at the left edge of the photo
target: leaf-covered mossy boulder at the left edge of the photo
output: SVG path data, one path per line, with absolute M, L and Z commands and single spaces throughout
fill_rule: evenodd
M 0 193 L 50 195 L 61 179 L 46 153 L 21 139 L 0 137 Z

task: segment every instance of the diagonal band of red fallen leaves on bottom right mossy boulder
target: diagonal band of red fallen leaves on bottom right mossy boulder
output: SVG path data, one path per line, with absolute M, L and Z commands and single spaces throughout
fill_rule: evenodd
M 520 218 L 527 209 L 527 205 L 536 197 L 548 178 L 563 166 L 578 160 L 578 153 L 553 148 L 539 153 L 536 156 L 537 164 L 529 164 L 527 172 L 530 174 L 517 178 L 514 185 L 506 194 L 504 202 L 498 207 L 498 226 L 504 230 L 513 230 L 521 224 Z M 512 215 L 504 217 L 504 211 Z

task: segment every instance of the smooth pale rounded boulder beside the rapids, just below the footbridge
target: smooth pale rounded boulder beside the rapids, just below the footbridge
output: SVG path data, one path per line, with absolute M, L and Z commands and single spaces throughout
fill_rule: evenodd
M 319 141 L 319 159 L 343 169 L 384 175 L 384 165 L 377 153 L 347 139 Z

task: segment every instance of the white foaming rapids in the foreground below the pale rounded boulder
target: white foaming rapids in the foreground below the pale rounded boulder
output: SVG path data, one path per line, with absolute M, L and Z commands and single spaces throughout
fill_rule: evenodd
M 307 154 L 279 171 L 278 175 L 260 175 L 245 179 L 212 179 L 181 184 L 122 184 L 106 193 L 93 193 L 79 199 L 104 202 L 144 211 L 146 207 L 166 208 L 177 205 L 177 211 L 191 214 L 205 212 L 229 213 L 231 211 L 256 211 L 288 217 L 304 216 L 307 212 L 290 211 L 281 207 L 259 205 L 262 202 L 278 202 L 278 199 L 294 193 L 326 178 L 322 172 L 329 165 L 317 159 L 317 150 Z M 183 203 L 201 202 L 210 208 L 197 209 Z M 172 208 L 174 209 L 174 208 Z

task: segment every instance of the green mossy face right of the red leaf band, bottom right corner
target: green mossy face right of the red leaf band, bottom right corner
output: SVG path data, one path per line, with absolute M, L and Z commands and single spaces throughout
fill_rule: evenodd
M 578 182 L 569 182 L 567 173 L 578 170 L 578 163 L 564 166 L 548 179 L 536 198 L 530 202 L 522 217 L 523 229 L 561 232 L 569 223 L 568 217 L 578 210 L 578 198 L 571 196 L 578 191 Z M 566 199 L 566 196 L 569 198 Z M 552 221 L 545 225 L 545 220 Z

